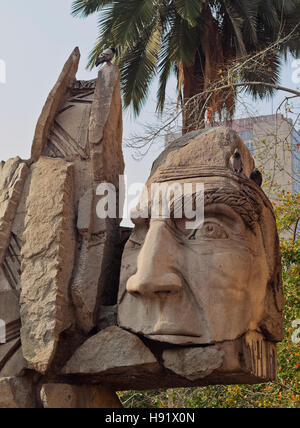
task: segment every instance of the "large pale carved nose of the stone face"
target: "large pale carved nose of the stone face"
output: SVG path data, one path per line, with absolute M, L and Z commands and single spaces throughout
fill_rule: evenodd
M 175 245 L 165 222 L 152 222 L 138 258 L 137 273 L 127 282 L 128 293 L 135 297 L 157 297 L 182 290 Z

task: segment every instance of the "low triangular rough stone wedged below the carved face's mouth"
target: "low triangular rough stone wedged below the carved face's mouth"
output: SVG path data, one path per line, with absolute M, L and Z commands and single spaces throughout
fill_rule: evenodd
M 64 374 L 81 375 L 159 371 L 159 363 L 143 342 L 118 327 L 109 327 L 88 339 L 63 369 Z

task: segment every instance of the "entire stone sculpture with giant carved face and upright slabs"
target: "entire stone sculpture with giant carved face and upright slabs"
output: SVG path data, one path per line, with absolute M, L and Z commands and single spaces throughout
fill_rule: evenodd
M 114 391 L 274 380 L 281 259 L 247 147 L 201 130 L 154 163 L 148 190 L 204 185 L 201 227 L 135 218 L 130 234 L 98 218 L 97 186 L 119 191 L 124 172 L 120 75 L 105 65 L 77 81 L 79 58 L 49 94 L 31 159 L 1 164 L 0 407 L 120 407 Z

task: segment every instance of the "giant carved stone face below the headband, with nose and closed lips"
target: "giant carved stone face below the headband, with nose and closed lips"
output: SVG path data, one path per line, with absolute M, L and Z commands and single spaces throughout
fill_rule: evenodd
M 168 182 L 204 183 L 204 224 L 187 230 L 184 217 L 135 221 L 123 256 L 120 326 L 177 345 L 266 333 L 266 324 L 271 336 L 274 257 L 266 247 L 275 247 L 275 235 L 263 192 L 230 173 Z

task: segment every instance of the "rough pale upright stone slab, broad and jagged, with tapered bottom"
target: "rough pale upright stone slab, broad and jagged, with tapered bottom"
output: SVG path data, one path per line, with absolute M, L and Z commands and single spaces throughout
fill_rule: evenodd
M 32 166 L 22 248 L 21 338 L 29 366 L 44 373 L 72 324 L 69 283 L 75 256 L 73 166 L 41 158 Z

